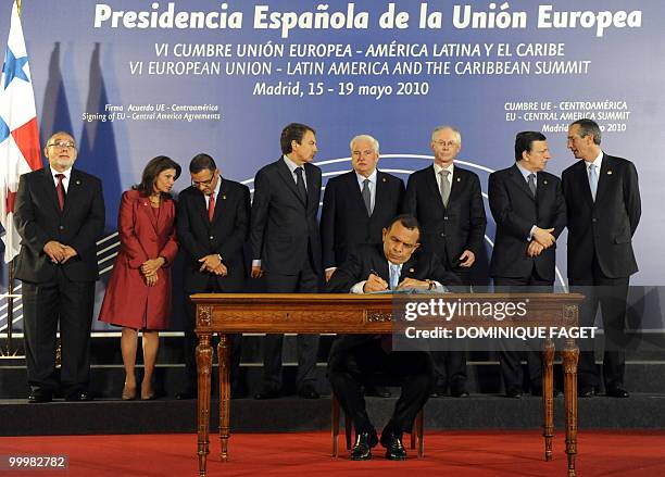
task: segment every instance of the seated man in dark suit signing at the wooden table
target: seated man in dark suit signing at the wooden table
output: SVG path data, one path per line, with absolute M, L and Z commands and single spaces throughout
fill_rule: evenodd
M 382 244 L 362 244 L 335 271 L 327 284 L 329 292 L 371 293 L 416 288 L 444 291 L 443 285 L 457 285 L 457 277 L 441 261 L 418 249 L 419 229 L 411 215 L 396 217 L 382 231 Z M 379 439 L 365 410 L 361 387 L 377 371 L 402 378 L 402 393 L 380 443 L 386 457 L 406 459 L 402 434 L 411 431 L 418 411 L 435 384 L 431 357 L 423 351 L 388 351 L 384 340 L 371 335 L 338 336 L 328 357 L 328 379 L 344 413 L 353 420 L 356 440 L 351 460 L 372 459 Z

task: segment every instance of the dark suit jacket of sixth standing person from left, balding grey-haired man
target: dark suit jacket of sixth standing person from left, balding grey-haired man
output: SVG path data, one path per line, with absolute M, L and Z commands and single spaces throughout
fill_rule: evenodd
M 479 256 L 487 218 L 478 176 L 465 168 L 453 168 L 448 206 L 443 206 L 435 177 L 434 165 L 417 171 L 409 178 L 403 212 L 414 215 L 421 224 L 421 243 L 457 266 L 464 250 Z

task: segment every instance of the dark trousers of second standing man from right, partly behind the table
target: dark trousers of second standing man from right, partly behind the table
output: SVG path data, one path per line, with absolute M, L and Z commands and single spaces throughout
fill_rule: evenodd
M 538 276 L 536 267 L 531 271 L 531 276 L 524 278 L 494 277 L 494 291 L 505 293 L 540 292 L 551 293 L 553 283 L 543 280 Z M 528 288 L 527 288 L 528 287 Z M 538 340 L 522 341 L 500 340 L 499 341 L 499 362 L 501 365 L 501 376 L 505 391 L 517 390 L 522 392 L 524 385 L 524 373 L 522 368 L 522 355 L 527 360 L 529 371 L 529 381 L 531 392 L 542 389 L 542 343 Z M 526 351 L 517 351 L 519 348 Z

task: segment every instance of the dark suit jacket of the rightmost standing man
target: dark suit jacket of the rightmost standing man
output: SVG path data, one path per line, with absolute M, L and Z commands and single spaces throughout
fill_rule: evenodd
M 585 161 L 562 175 L 568 209 L 568 278 L 588 275 L 594 252 L 610 278 L 628 277 L 638 271 L 631 242 L 641 215 L 635 165 L 603 154 L 598 179 L 593 202 Z

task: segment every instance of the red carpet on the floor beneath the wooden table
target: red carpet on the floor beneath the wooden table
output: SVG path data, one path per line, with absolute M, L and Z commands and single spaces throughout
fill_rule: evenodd
M 218 439 L 211 439 L 209 476 L 560 476 L 566 475 L 564 437 L 554 438 L 554 461 L 542 459 L 537 431 L 427 432 L 425 457 L 410 452 L 406 462 L 388 462 L 376 448 L 369 462 L 329 456 L 327 432 L 237 434 L 231 460 L 218 461 Z M 66 454 L 67 470 L 0 470 L 2 476 L 196 476 L 195 435 L 64 436 L 0 438 L 0 455 Z M 340 439 L 340 444 L 342 440 Z M 406 443 L 406 442 L 405 442 Z M 0 468 L 2 466 L 0 465 Z M 584 431 L 578 437 L 580 477 L 665 476 L 665 431 Z

